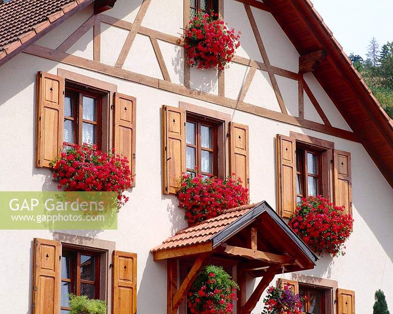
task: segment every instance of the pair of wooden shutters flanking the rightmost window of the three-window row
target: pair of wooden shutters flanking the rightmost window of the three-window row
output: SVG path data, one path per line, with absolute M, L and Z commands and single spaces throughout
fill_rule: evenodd
M 282 217 L 296 210 L 296 139 L 277 134 L 277 207 Z M 352 212 L 351 153 L 333 150 L 334 203 Z M 327 171 L 327 170 L 326 170 Z

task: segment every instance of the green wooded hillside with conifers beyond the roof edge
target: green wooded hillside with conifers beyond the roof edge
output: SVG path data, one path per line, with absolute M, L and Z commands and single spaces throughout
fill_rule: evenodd
M 354 53 L 349 58 L 386 113 L 393 118 L 393 41 L 379 49 L 373 37 L 367 50 L 366 60 Z

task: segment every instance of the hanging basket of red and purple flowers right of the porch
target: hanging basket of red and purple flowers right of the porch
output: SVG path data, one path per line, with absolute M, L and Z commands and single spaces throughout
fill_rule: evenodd
M 294 293 L 290 285 L 282 289 L 270 286 L 263 299 L 265 307 L 261 314 L 300 314 L 304 299 Z

